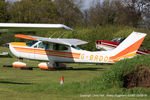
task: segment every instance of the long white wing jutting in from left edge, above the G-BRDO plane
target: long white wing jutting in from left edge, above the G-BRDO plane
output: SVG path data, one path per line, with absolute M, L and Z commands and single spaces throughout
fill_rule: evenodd
M 25 28 L 65 28 L 72 29 L 63 24 L 25 24 L 25 23 L 0 23 L 0 27 L 25 27 Z

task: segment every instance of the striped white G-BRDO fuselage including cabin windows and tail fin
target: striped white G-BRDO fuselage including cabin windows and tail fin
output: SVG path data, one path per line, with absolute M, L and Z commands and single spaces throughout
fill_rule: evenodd
M 18 58 L 49 62 L 114 63 L 121 59 L 134 57 L 145 36 L 145 33 L 133 32 L 110 51 L 91 52 L 74 45 L 37 41 L 36 39 L 27 43 L 12 42 L 9 44 L 9 48 Z

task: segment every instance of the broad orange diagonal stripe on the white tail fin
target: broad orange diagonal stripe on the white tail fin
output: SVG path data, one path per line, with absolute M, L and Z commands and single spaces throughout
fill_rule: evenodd
M 138 50 L 138 48 L 140 47 L 142 41 L 144 40 L 145 37 L 143 37 L 142 39 L 138 40 L 137 42 L 135 42 L 134 44 L 132 44 L 131 46 L 129 46 L 128 48 L 126 48 L 125 50 L 121 51 L 120 53 L 118 53 L 115 56 L 110 57 L 110 60 L 115 60 L 121 56 L 127 55 L 128 53 L 134 52 L 136 50 Z

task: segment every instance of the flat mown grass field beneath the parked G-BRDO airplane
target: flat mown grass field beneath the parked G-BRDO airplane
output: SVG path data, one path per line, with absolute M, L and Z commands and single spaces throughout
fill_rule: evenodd
M 8 50 L 1 47 L 1 52 Z M 110 70 L 113 65 L 96 64 L 67 64 L 73 70 L 46 71 L 37 68 L 38 61 L 23 60 L 31 70 L 20 70 L 19 68 L 4 68 L 3 65 L 10 65 L 16 58 L 0 58 L 0 99 L 1 100 L 148 100 L 146 97 L 112 97 L 110 91 L 117 95 L 122 93 L 108 89 L 104 92 L 91 92 L 90 84 L 81 87 L 101 76 L 103 72 Z M 64 85 L 60 85 L 60 77 L 64 76 Z M 96 81 L 95 81 L 96 82 Z M 80 88 L 81 87 L 81 88 Z M 95 87 L 94 87 L 95 88 Z M 108 94 L 107 94 L 108 91 Z M 140 92 L 139 92 L 140 93 Z M 104 96 L 101 96 L 103 95 Z

